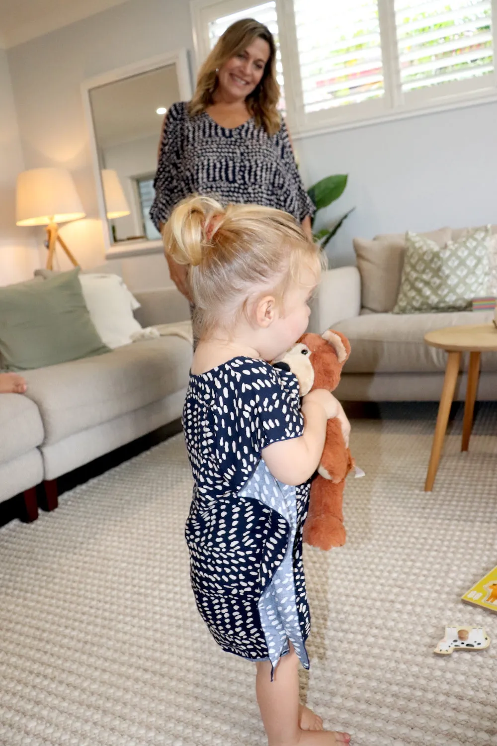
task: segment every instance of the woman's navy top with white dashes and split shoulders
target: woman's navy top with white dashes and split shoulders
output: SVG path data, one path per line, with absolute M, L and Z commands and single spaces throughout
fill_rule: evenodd
M 173 104 L 165 120 L 150 212 L 156 228 L 180 200 L 194 193 L 224 205 L 276 207 L 299 222 L 314 213 L 285 122 L 279 132 L 268 135 L 253 119 L 229 129 L 205 111 L 191 117 L 187 107 L 186 101 Z

